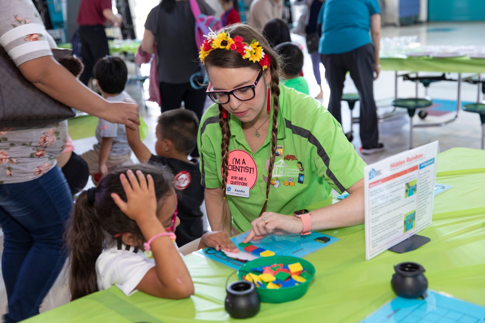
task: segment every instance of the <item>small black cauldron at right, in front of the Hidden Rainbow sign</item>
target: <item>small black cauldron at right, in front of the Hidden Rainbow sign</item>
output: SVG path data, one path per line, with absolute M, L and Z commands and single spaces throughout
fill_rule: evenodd
M 402 262 L 394 267 L 392 275 L 392 290 L 404 298 L 426 298 L 428 280 L 424 276 L 424 268 L 416 262 Z

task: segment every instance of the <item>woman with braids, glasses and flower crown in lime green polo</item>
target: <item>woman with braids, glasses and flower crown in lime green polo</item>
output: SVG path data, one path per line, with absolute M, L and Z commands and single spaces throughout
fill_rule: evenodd
M 278 56 L 265 38 L 232 25 L 211 33 L 199 57 L 216 103 L 197 138 L 212 230 L 231 234 L 232 224 L 233 235 L 252 228 L 265 235 L 302 232 L 309 219 L 317 230 L 363 223 L 365 163 L 318 101 L 279 83 Z M 311 218 L 283 215 L 332 196 L 332 188 L 350 196 Z

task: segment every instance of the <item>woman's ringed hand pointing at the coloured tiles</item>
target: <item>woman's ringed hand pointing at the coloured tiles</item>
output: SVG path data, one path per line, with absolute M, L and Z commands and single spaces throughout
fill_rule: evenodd
M 263 219 L 266 219 L 266 223 Z M 303 222 L 300 218 L 274 212 L 264 212 L 251 222 L 251 226 L 253 228 L 244 239 L 244 243 L 261 240 L 270 234 L 285 235 L 303 231 Z

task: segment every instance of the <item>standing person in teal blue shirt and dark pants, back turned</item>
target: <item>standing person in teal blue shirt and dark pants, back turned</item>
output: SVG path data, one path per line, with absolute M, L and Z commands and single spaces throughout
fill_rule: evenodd
M 322 24 L 319 52 L 330 87 L 328 111 L 341 123 L 340 99 L 345 75 L 350 72 L 360 96 L 362 153 L 384 150 L 378 142 L 372 84 L 379 76 L 381 16 L 377 0 L 326 0 L 318 23 Z

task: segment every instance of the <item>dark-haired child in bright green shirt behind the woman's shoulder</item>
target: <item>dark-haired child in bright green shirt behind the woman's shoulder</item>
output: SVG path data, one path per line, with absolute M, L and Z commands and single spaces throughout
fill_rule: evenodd
M 281 76 L 286 87 L 291 87 L 298 92 L 310 95 L 307 80 L 300 76 L 303 67 L 303 52 L 298 45 L 291 42 L 281 43 L 275 46 L 275 51 L 281 55 L 283 66 Z

